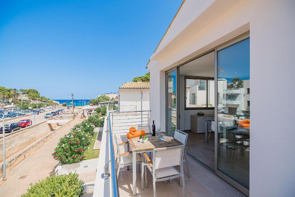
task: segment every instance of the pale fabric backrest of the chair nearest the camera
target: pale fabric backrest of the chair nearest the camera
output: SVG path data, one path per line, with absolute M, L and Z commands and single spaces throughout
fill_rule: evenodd
M 155 169 L 182 165 L 184 145 L 157 148 L 153 150 L 153 166 Z

